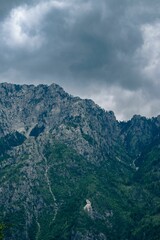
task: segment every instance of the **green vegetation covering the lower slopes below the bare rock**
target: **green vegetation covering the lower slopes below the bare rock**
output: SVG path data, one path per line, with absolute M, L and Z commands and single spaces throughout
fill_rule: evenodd
M 135 171 L 127 164 L 117 161 L 115 164 L 114 158 L 106 159 L 97 167 L 64 143 L 55 141 L 48 145 L 45 152 L 48 177 L 58 211 L 53 220 L 53 198 L 46 180 L 40 177 L 42 172 L 39 172 L 39 187 L 35 185 L 32 188 L 35 196 L 41 196 L 44 201 L 38 214 L 38 239 L 68 240 L 75 232 L 83 236 L 91 232 L 97 239 L 97 234 L 101 233 L 109 240 L 159 240 L 159 156 L 158 143 L 144 151 L 137 160 L 139 170 Z M 24 155 L 22 162 L 13 165 L 14 174 L 11 176 L 9 167 L 4 168 L 1 174 L 9 181 L 20 182 L 19 173 L 27 159 L 28 155 Z M 44 162 L 39 163 L 41 165 L 43 167 Z M 86 199 L 92 203 L 92 216 L 83 209 Z M 17 204 L 20 210 L 6 216 L 5 220 L 8 219 L 12 225 L 6 236 L 10 236 L 11 231 L 25 228 L 25 210 L 21 199 Z M 31 239 L 35 239 L 37 229 L 34 217 L 29 228 Z M 4 233 L 5 226 L 1 224 L 0 239 L 3 239 Z

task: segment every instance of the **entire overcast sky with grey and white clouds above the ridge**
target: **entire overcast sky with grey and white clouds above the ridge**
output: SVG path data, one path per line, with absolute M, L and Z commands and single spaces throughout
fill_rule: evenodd
M 0 82 L 55 82 L 118 119 L 160 114 L 160 1 L 1 0 Z

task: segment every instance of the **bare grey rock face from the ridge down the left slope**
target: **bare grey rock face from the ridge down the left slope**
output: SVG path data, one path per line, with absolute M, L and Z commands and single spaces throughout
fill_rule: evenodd
M 41 215 L 45 212 L 52 224 L 61 205 L 52 191 L 47 145 L 60 141 L 98 165 L 116 143 L 118 123 L 112 113 L 91 100 L 71 97 L 56 84 L 0 84 L 0 109 L 1 139 L 14 132 L 23 138 L 14 146 L 12 138 L 1 152 L 1 218 L 11 224 L 16 214 L 21 218 L 6 239 L 39 239 Z M 83 239 L 92 239 L 92 234 Z

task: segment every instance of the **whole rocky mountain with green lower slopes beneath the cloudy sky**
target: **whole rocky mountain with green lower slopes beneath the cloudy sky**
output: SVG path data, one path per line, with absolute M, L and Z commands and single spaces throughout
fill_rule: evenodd
M 0 239 L 159 240 L 160 116 L 0 84 Z

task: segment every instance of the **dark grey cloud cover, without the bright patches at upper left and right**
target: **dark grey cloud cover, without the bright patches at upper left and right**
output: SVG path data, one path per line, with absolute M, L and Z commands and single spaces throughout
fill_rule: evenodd
M 23 4 L 32 7 L 40 2 L 47 1 L 2 1 L 1 23 L 13 7 Z M 0 37 L 1 81 L 3 78 L 28 83 L 54 81 L 73 94 L 87 97 L 88 91 L 93 99 L 96 96 L 92 87 L 97 86 L 100 102 L 105 101 L 101 89 L 106 89 L 106 94 L 113 96 L 113 110 L 119 114 L 119 109 L 124 109 L 124 118 L 139 111 L 152 98 L 159 99 L 155 79 L 146 78 L 142 71 L 147 64 L 145 56 L 137 52 L 144 44 L 141 26 L 160 21 L 160 3 L 157 0 L 64 2 L 69 6 L 51 9 L 39 23 L 38 33 L 44 38 L 39 48 L 10 48 L 2 41 L 3 36 Z M 122 95 L 117 97 L 120 91 Z M 123 94 L 126 91 L 131 93 L 129 97 Z M 135 107 L 134 99 L 140 92 L 139 104 L 135 101 Z

